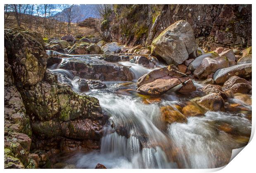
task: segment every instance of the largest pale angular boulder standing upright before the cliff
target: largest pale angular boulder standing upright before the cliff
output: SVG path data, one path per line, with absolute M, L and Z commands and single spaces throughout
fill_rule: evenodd
M 177 21 L 156 37 L 151 54 L 161 57 L 167 64 L 181 64 L 197 49 L 192 27 L 187 21 Z

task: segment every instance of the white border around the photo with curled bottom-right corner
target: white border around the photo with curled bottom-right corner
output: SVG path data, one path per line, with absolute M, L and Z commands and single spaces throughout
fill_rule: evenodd
M 72 3 L 75 3 L 75 4 L 209 4 L 209 3 L 212 3 L 212 4 L 253 4 L 253 2 L 255 1 L 252 1 L 252 0 L 213 0 L 213 1 L 206 1 L 206 0 L 194 0 L 194 1 L 188 1 L 188 0 L 38 0 L 38 1 L 35 1 L 35 0 L 6 0 L 6 1 L 2 1 L 2 17 L 0 18 L 1 20 L 1 25 L 2 25 L 2 30 L 4 28 L 4 18 L 3 18 L 3 14 L 4 14 L 4 10 L 3 10 L 3 4 L 19 4 L 19 3 L 24 3 L 24 4 L 33 4 L 33 3 L 37 3 L 37 4 L 69 4 L 70 2 Z M 254 4 L 252 5 L 252 19 L 254 19 L 254 12 L 255 12 L 255 7 L 254 7 Z M 252 43 L 253 45 L 255 45 L 255 37 L 254 37 L 254 29 L 255 29 L 255 22 L 252 20 L 252 36 L 253 36 L 253 39 L 252 39 Z M 1 40 L 1 60 L 2 60 L 2 73 L 0 74 L 0 80 L 3 81 L 4 80 L 4 38 L 3 38 L 3 31 L 2 31 L 2 34 L 0 35 L 0 40 Z M 256 52 L 256 49 L 255 47 L 252 47 L 253 48 L 253 52 Z M 255 53 L 254 53 L 255 54 Z M 252 61 L 253 61 L 253 64 L 256 63 L 256 60 L 255 58 L 252 58 Z M 252 81 L 254 83 L 255 81 L 255 70 L 253 68 L 253 75 L 252 75 Z M 254 86 L 254 84 L 253 84 Z M 2 117 L 2 130 L 0 131 L 0 133 L 2 134 L 2 140 L 1 141 L 1 144 L 2 144 L 2 150 L 1 150 L 1 161 L 0 161 L 0 164 L 2 165 L 2 169 L 4 168 L 4 140 L 3 140 L 3 137 L 4 137 L 4 121 L 3 121 L 3 117 L 4 117 L 4 82 L 2 82 L 1 84 L 1 95 L 0 95 L 0 98 L 2 99 L 1 100 L 1 117 Z M 252 94 L 252 103 L 253 105 L 256 105 L 256 101 L 254 99 L 254 91 L 253 91 L 253 94 Z M 254 134 L 254 131 L 255 131 L 255 110 L 254 108 L 252 109 L 252 136 Z M 161 170 L 156 170 L 156 169 L 105 169 L 105 170 L 100 170 L 100 169 L 87 169 L 87 170 L 81 170 L 81 169 L 76 169 L 74 171 L 76 172 L 81 172 L 81 173 L 88 173 L 88 172 L 111 172 L 111 173 L 120 173 L 120 171 L 122 173 L 130 173 L 130 172 L 147 172 L 147 173 L 155 173 L 156 171 L 161 171 L 161 172 L 164 172 L 164 173 L 173 173 L 173 172 L 181 172 L 181 173 L 201 173 L 201 172 L 213 172 L 213 171 L 218 171 L 220 170 L 219 172 L 220 173 L 243 173 L 243 172 L 247 172 L 247 173 L 251 173 L 251 172 L 255 172 L 255 154 L 256 154 L 256 150 L 255 150 L 255 147 L 256 147 L 256 140 L 255 138 L 251 138 L 250 139 L 250 143 L 238 154 L 238 157 L 235 157 L 227 166 L 225 166 L 225 168 L 221 169 L 221 168 L 215 168 L 215 169 L 161 169 Z M 37 170 L 29 170 L 29 169 L 25 169 L 25 170 L 3 170 L 5 172 L 55 172 L 55 173 L 63 173 L 63 172 L 71 172 L 72 170 L 58 170 L 58 169 L 55 169 L 55 170 L 52 170 L 52 169 L 49 169 L 49 170 L 43 170 L 43 169 L 37 169 Z

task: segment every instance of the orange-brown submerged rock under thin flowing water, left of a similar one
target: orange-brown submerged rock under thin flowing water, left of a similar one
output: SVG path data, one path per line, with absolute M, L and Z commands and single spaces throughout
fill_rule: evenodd
M 160 111 L 161 118 L 166 123 L 171 124 L 173 122 L 187 122 L 187 118 L 182 113 L 180 113 L 180 111 L 177 108 L 175 108 L 175 106 L 162 106 L 160 108 Z

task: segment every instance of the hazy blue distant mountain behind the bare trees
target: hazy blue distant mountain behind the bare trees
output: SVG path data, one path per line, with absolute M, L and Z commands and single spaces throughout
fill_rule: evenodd
M 75 11 L 73 23 L 81 22 L 89 17 L 100 18 L 95 4 L 74 5 L 73 10 Z M 63 12 L 59 12 L 57 15 L 62 16 Z M 66 19 L 63 18 L 62 21 L 66 21 Z

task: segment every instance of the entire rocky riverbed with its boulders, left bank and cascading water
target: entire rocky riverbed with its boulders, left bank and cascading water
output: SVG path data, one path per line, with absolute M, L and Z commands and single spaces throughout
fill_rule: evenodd
M 216 168 L 251 135 L 251 47 L 187 21 L 150 47 L 5 30 L 5 168 Z M 46 51 L 47 50 L 47 51 Z

